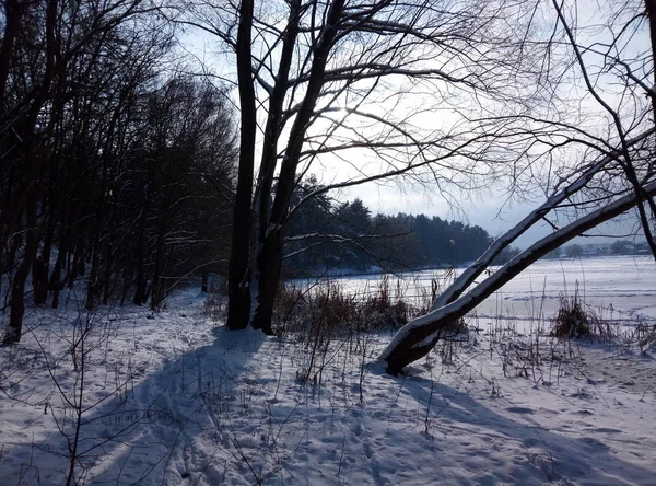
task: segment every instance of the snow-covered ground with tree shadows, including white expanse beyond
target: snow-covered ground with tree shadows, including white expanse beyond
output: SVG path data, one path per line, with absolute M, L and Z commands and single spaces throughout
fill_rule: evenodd
M 546 335 L 576 280 L 621 338 Z M 656 347 L 631 334 L 656 324 L 653 259 L 538 263 L 469 324 L 390 377 L 389 335 L 227 332 L 198 289 L 31 309 L 0 348 L 0 484 L 656 485 Z

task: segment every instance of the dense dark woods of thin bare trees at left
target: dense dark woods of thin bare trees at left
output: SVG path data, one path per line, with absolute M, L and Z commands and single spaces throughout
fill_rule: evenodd
M 227 258 L 236 158 L 224 94 L 179 73 L 149 3 L 4 2 L 0 248 L 5 343 L 25 300 L 161 305 Z

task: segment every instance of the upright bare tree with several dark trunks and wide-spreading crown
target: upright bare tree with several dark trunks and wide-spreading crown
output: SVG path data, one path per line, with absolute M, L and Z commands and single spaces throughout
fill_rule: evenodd
M 343 177 L 304 200 L 401 174 L 447 195 L 489 184 L 515 154 L 493 154 L 507 134 L 479 129 L 473 114 L 490 103 L 528 106 L 531 96 L 508 86 L 539 81 L 524 66 L 535 53 L 520 42 L 530 18 L 523 4 L 245 0 L 238 9 L 189 4 L 187 13 L 185 23 L 221 38 L 236 59 L 230 328 L 271 332 L 292 194 L 311 167 L 330 161 Z

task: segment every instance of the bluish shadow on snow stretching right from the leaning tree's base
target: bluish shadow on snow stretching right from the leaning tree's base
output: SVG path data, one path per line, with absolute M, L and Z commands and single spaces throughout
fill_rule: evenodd
M 548 427 L 551 419 L 544 417 L 547 412 L 541 408 L 512 405 L 506 407 L 506 412 L 517 416 L 515 420 L 493 412 L 459 390 L 423 377 L 409 377 L 403 380 L 401 386 L 424 405 L 431 397 L 429 428 L 432 427 L 437 437 L 462 436 L 468 440 L 480 439 L 480 447 L 472 451 L 477 461 L 487 462 L 495 451 L 500 451 L 503 456 L 516 451 L 512 464 L 505 470 L 506 466 L 494 467 L 499 456 L 489 458 L 487 482 L 490 484 L 536 484 L 536 481 L 540 484 L 561 479 L 563 484 L 569 484 L 569 481 L 589 485 L 645 484 L 645 481 L 656 478 L 654 470 L 649 471 L 618 458 L 599 436 L 594 438 L 589 437 L 591 433 L 582 432 L 579 437 L 573 437 L 578 427 L 571 430 L 551 430 Z M 560 414 L 555 410 L 550 413 Z M 588 421 L 589 431 L 594 432 L 593 413 L 583 407 L 577 413 L 581 417 L 576 419 L 582 423 Z M 559 418 L 554 417 L 554 420 L 559 421 Z M 582 424 L 581 429 L 584 427 Z M 625 433 L 614 429 L 599 431 Z M 621 440 L 639 443 L 633 437 L 624 437 Z M 440 442 L 438 438 L 436 442 Z M 480 462 L 477 464 L 480 467 Z

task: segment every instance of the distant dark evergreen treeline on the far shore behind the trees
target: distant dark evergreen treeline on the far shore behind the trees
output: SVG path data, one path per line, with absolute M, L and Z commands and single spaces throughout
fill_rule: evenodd
M 409 270 L 462 265 L 478 258 L 492 238 L 478 225 L 424 215 L 372 215 L 360 199 L 339 202 L 311 180 L 296 192 L 288 228 L 288 277 L 324 271 Z M 301 202 L 303 201 L 303 202 Z M 301 202 L 301 204 L 300 204 Z M 504 252 L 499 263 L 516 250 Z

